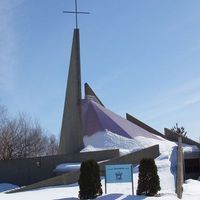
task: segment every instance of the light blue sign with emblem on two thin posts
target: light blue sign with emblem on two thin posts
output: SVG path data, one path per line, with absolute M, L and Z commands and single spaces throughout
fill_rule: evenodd
M 105 193 L 107 194 L 107 183 L 132 183 L 133 187 L 133 168 L 131 164 L 124 165 L 106 165 L 105 166 Z

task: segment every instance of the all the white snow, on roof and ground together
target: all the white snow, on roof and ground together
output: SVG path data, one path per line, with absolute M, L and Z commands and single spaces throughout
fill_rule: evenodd
M 161 155 L 155 159 L 158 174 L 160 177 L 161 191 L 159 191 L 160 197 L 144 197 L 144 196 L 132 196 L 131 195 L 131 184 L 120 183 L 109 184 L 107 186 L 108 194 L 105 194 L 98 199 L 165 199 L 175 200 L 178 199 L 175 194 L 175 180 L 176 180 L 176 168 L 177 168 L 177 144 L 170 142 L 161 137 L 159 139 L 152 139 L 142 136 L 137 136 L 133 139 L 125 138 L 123 136 L 116 135 L 110 131 L 98 132 L 92 136 L 84 137 L 85 148 L 82 151 L 95 151 L 103 149 L 120 149 L 121 154 L 138 151 L 140 149 L 159 144 Z M 184 151 L 196 151 L 195 146 L 184 145 Z M 71 167 L 79 167 L 77 164 L 71 165 Z M 70 165 L 63 164 L 58 166 L 62 169 L 69 168 Z M 133 170 L 134 178 L 134 193 L 136 193 L 137 182 L 138 182 L 138 166 L 134 167 Z M 0 186 L 1 187 L 1 186 Z M 105 188 L 105 180 L 102 177 L 102 188 Z M 200 200 L 200 181 L 198 180 L 187 180 L 183 185 L 183 199 L 184 200 Z M 11 188 L 12 189 L 12 188 Z M 34 191 L 21 192 L 15 194 L 0 193 L 1 200 L 20 200 L 20 199 L 56 199 L 56 200 L 67 200 L 67 199 L 78 199 L 79 187 L 77 184 L 59 186 L 59 187 L 48 187 Z

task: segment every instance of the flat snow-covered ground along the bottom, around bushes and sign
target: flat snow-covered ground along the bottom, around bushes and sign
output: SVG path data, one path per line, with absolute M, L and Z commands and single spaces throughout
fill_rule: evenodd
M 134 181 L 135 182 L 135 181 Z M 108 185 L 108 194 L 105 194 L 104 179 L 102 180 L 103 195 L 97 199 L 102 200 L 178 200 L 175 194 L 162 193 L 160 197 L 132 196 L 130 183 L 127 184 L 110 184 Z M 200 181 L 187 180 L 183 185 L 183 200 L 199 200 L 200 199 Z M 0 193 L 1 200 L 70 200 L 78 199 L 79 187 L 77 184 L 68 186 L 57 186 L 42 188 L 28 192 L 20 192 L 14 194 Z

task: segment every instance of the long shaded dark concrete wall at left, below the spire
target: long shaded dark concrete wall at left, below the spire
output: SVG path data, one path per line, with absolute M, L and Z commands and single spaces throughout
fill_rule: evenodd
M 118 156 L 119 150 L 116 149 L 0 161 L 0 183 L 13 183 L 19 186 L 29 185 L 54 177 L 53 170 L 60 163 L 82 162 L 87 159 L 100 161 Z

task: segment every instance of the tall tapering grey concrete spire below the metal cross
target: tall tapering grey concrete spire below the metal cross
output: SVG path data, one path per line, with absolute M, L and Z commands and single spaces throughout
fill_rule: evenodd
M 79 29 L 74 29 L 58 153 L 79 152 L 83 148 L 82 137 Z

